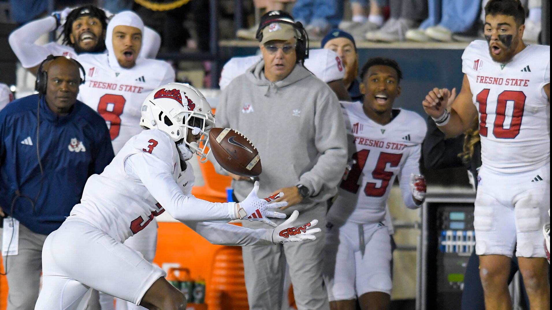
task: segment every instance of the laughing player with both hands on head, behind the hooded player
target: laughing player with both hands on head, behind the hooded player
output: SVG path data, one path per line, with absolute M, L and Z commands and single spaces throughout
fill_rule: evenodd
M 31 21 L 9 35 L 9 45 L 23 68 L 36 74 L 46 56 L 77 57 L 81 53 L 105 52 L 105 29 L 112 15 L 103 9 L 88 4 L 76 9 L 66 8 L 49 17 Z M 40 36 L 61 27 L 63 44 L 50 42 L 36 45 Z M 161 46 L 161 36 L 150 28 L 144 30 L 144 53 L 155 58 Z

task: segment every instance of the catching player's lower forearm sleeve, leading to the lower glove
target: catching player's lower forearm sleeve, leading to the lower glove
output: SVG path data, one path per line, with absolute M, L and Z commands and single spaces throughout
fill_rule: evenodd
M 232 224 L 184 221 L 207 241 L 221 246 L 261 246 L 274 244 L 272 229 L 248 229 Z

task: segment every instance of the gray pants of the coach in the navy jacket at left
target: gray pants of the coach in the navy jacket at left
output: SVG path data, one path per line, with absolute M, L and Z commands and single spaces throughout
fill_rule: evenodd
M 0 230 L 0 249 L 2 235 L 3 229 Z M 18 254 L 2 257 L 9 287 L 7 310 L 34 310 L 40 288 L 42 248 L 46 237 L 19 223 Z M 97 296 L 97 292 L 93 293 Z M 95 298 L 97 300 L 98 297 Z M 99 309 L 99 303 L 91 302 L 87 309 Z

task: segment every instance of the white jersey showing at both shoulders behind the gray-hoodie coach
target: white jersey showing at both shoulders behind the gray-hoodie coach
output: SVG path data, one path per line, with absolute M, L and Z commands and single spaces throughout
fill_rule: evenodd
M 234 78 L 245 73 L 247 68 L 250 68 L 261 59 L 261 55 L 230 58 L 230 60 L 224 64 L 220 73 L 220 89 L 224 90 Z M 328 50 L 327 48 L 310 50 L 309 58 L 305 59 L 305 68 L 325 83 L 330 83 L 331 81 L 343 79 L 345 77 L 345 70 L 341 58 L 339 58 L 336 52 Z

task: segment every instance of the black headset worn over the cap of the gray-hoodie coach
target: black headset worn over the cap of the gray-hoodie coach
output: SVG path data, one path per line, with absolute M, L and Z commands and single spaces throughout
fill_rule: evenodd
M 270 11 L 265 13 L 261 17 L 261 23 L 255 34 L 255 39 L 261 42 L 263 40 L 263 29 L 273 23 L 288 24 L 299 32 L 301 37 L 297 38 L 297 44 L 295 46 L 295 53 L 297 55 L 298 62 L 304 62 L 306 58 L 309 58 L 309 35 L 305 31 L 303 24 L 300 21 L 294 21 L 293 17 L 284 11 Z

